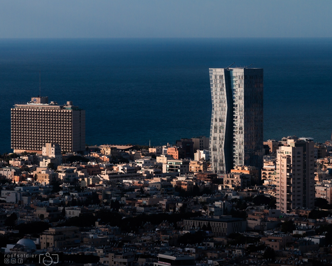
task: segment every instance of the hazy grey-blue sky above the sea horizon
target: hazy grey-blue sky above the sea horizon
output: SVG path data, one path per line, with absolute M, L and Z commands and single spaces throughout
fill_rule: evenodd
M 331 11 L 331 0 L 0 0 L 0 38 L 332 37 Z

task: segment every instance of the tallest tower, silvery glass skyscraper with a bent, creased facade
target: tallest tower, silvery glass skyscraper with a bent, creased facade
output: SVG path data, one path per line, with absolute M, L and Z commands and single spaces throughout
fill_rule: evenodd
M 234 165 L 262 167 L 263 68 L 209 68 L 212 115 L 210 162 L 214 173 Z

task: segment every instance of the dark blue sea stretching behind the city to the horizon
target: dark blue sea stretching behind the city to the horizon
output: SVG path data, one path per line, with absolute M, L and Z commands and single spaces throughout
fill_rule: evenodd
M 264 68 L 264 138 L 331 138 L 332 39 L 0 39 L 0 152 L 10 108 L 39 94 L 86 110 L 86 143 L 209 135 L 209 67 Z

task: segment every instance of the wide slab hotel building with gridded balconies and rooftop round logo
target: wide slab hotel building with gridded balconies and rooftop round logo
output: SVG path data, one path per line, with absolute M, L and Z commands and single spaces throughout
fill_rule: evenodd
M 48 97 L 11 108 L 11 148 L 14 152 L 42 152 L 45 143 L 57 143 L 62 151 L 85 150 L 85 110 L 71 101 L 59 105 Z

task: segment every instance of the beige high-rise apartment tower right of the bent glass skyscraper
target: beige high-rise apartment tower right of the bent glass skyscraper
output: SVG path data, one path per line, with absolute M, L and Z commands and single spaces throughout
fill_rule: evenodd
M 288 139 L 277 150 L 277 209 L 314 208 L 314 143 L 309 138 Z M 278 183 L 279 181 L 279 183 Z

